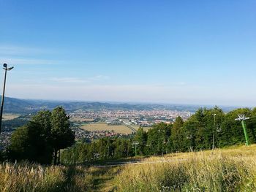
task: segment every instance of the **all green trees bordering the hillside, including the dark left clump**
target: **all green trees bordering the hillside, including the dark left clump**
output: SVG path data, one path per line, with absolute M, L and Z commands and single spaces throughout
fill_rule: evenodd
M 235 120 L 239 114 L 249 118 L 246 120 L 249 142 L 255 143 L 256 108 L 241 108 L 226 114 L 219 107 L 214 107 L 200 108 L 185 121 L 177 117 L 173 124 L 159 123 L 147 131 L 139 128 L 129 139 L 105 137 L 91 143 L 75 144 L 67 113 L 63 107 L 56 107 L 53 111 L 38 112 L 29 123 L 13 132 L 7 158 L 40 164 L 84 164 L 136 155 L 208 150 L 213 145 L 244 144 L 241 122 Z M 64 150 L 61 152 L 61 149 Z

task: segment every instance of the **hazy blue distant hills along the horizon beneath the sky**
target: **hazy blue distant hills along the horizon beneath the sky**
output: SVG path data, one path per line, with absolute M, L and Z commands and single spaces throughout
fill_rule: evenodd
M 47 101 L 31 99 L 15 99 L 5 97 L 4 112 L 31 113 L 39 110 L 52 110 L 57 106 L 63 106 L 68 112 L 75 110 L 177 110 L 195 112 L 202 106 L 185 104 L 127 104 L 89 101 Z M 203 106 L 213 107 L 213 106 Z M 222 107 L 224 111 L 230 111 L 237 107 Z

